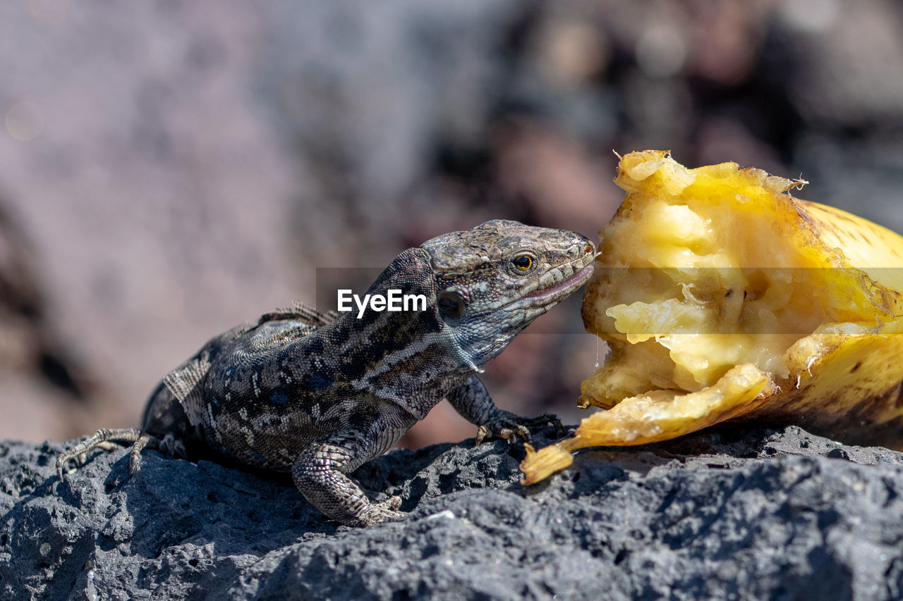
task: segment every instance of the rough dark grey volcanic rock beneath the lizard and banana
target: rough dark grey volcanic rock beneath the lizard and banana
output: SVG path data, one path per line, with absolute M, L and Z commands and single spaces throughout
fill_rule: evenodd
M 539 440 L 543 442 L 542 439 Z M 357 476 L 410 515 L 324 522 L 287 481 L 125 450 L 62 484 L 0 443 L 0 596 L 857 598 L 903 595 L 903 454 L 795 427 L 582 453 L 517 484 L 519 447 L 396 450 Z

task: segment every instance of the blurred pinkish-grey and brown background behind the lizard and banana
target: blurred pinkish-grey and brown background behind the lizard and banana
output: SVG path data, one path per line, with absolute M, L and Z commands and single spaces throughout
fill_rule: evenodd
M 494 217 L 596 239 L 646 148 L 903 231 L 903 4 L 4 2 L 0 438 L 136 425 L 317 268 Z M 489 364 L 500 406 L 578 421 L 579 304 Z M 403 444 L 474 431 L 442 403 Z

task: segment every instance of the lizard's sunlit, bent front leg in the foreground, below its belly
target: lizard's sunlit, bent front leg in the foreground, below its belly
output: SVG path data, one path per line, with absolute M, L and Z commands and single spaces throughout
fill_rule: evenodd
M 405 430 L 346 429 L 316 439 L 292 466 L 292 479 L 314 507 L 348 526 L 366 527 L 404 515 L 401 498 L 371 503 L 349 476 L 391 447 Z

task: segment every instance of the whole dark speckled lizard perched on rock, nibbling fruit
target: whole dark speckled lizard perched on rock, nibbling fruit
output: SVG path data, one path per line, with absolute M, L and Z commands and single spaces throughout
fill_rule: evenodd
M 551 414 L 498 409 L 483 365 L 586 282 L 595 248 L 560 229 L 496 219 L 396 256 L 368 293 L 423 294 L 423 310 L 321 312 L 303 305 L 232 328 L 163 377 L 140 429 L 101 429 L 62 452 L 131 443 L 169 457 L 213 451 L 251 470 L 289 472 L 317 509 L 349 526 L 396 519 L 401 499 L 371 502 L 348 476 L 447 398 L 487 436 L 530 441 Z

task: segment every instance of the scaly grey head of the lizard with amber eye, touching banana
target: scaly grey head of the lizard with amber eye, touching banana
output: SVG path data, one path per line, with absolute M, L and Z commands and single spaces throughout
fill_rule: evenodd
M 496 219 L 421 245 L 436 307 L 470 365 L 485 365 L 531 321 L 580 288 L 595 248 L 586 236 Z

